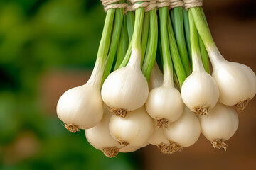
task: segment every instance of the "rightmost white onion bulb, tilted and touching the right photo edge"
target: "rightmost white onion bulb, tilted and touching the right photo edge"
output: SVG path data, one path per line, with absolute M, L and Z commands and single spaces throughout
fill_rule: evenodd
M 208 53 L 213 64 L 213 78 L 220 90 L 219 102 L 243 110 L 256 94 L 255 73 L 244 64 L 228 62 L 216 48 Z

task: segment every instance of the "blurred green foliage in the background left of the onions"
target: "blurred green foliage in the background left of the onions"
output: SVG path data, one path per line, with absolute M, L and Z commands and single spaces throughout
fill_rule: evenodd
M 83 130 L 64 130 L 39 104 L 38 79 L 48 69 L 93 66 L 104 19 L 100 0 L 0 1 L 0 169 L 136 169 L 137 157 L 105 157 Z M 14 160 L 10 148 L 24 132 L 39 149 Z

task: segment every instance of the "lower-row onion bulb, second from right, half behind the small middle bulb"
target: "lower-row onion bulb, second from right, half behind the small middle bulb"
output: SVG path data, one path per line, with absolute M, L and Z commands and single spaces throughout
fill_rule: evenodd
M 189 147 L 196 143 L 201 133 L 200 123 L 195 113 L 187 107 L 174 123 L 169 123 L 164 128 L 164 135 L 170 141 L 172 152 L 180 151 L 183 147 Z

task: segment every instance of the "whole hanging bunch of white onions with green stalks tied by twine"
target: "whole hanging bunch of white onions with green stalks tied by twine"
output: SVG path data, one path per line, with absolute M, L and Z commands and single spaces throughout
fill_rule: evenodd
M 226 151 L 239 123 L 233 106 L 252 100 L 256 76 L 220 55 L 202 1 L 101 1 L 107 15 L 92 75 L 58 101 L 65 127 L 85 129 L 107 157 L 149 144 L 173 154 L 201 133 Z

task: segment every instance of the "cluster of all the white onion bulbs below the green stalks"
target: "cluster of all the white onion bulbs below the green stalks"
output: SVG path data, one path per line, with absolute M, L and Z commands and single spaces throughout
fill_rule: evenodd
M 159 9 L 161 15 L 163 8 Z M 131 42 L 134 44 L 128 64 L 108 72 L 103 82 L 105 68 L 100 66 L 105 66 L 105 62 L 97 59 L 97 67 L 87 84 L 70 89 L 60 97 L 57 105 L 60 120 L 70 132 L 84 129 L 87 141 L 107 157 L 134 152 L 149 144 L 172 154 L 195 144 L 201 133 L 213 147 L 226 150 L 225 141 L 238 129 L 238 114 L 233 106 L 243 110 L 255 96 L 255 73 L 243 64 L 226 61 L 217 47 L 204 42 L 213 65 L 212 76 L 203 68 L 200 52 L 192 49 L 193 72 L 185 75 L 183 81 L 177 78 L 175 86 L 173 80 L 182 72 L 182 62 L 175 68 L 176 60 L 171 62 L 171 56 L 169 59 L 165 55 L 164 76 L 154 58 L 148 83 L 146 73 L 142 73 L 141 36 L 136 24 L 139 25 L 138 18 L 134 34 L 139 35 L 139 40 Z M 193 28 L 191 30 L 193 33 Z M 198 33 L 199 29 L 196 35 Z M 164 33 L 161 38 L 166 40 Z M 164 40 L 166 47 L 169 42 Z M 169 52 L 168 47 L 163 49 Z M 99 64 L 100 61 L 103 64 Z

